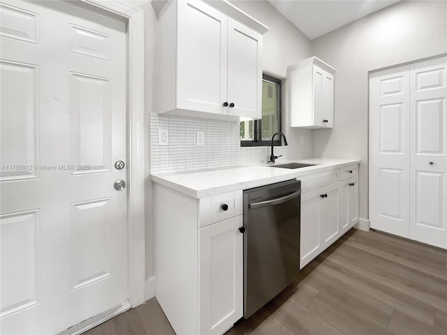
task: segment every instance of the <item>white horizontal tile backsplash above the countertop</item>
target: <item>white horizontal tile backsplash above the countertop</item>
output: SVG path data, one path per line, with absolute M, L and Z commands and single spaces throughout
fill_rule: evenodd
M 159 145 L 159 129 L 168 130 L 168 145 Z M 196 144 L 196 134 L 203 131 L 205 144 Z M 312 133 L 291 128 L 287 147 L 275 147 L 281 160 L 311 158 Z M 249 163 L 262 164 L 270 157 L 270 147 L 240 147 L 239 122 L 190 119 L 151 113 L 151 173 L 186 172 L 228 168 Z

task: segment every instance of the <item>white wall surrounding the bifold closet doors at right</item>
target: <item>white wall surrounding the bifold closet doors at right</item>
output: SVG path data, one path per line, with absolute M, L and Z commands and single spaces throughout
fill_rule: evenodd
M 312 131 L 314 157 L 360 158 L 360 218 L 368 218 L 368 71 L 447 52 L 447 2 L 402 1 L 312 40 L 337 68 L 332 130 Z

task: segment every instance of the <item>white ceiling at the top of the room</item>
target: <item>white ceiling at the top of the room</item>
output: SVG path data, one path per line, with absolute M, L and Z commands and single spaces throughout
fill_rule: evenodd
M 268 0 L 313 40 L 400 0 Z

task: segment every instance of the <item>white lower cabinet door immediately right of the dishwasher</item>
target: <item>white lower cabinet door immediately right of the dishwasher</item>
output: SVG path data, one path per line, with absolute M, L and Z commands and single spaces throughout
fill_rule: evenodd
M 319 189 L 301 195 L 300 269 L 321 253 L 319 202 Z

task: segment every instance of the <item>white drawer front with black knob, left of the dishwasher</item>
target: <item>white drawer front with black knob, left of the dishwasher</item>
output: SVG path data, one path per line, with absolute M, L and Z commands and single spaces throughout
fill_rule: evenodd
M 200 198 L 198 206 L 198 227 L 233 218 L 242 214 L 242 190 Z

